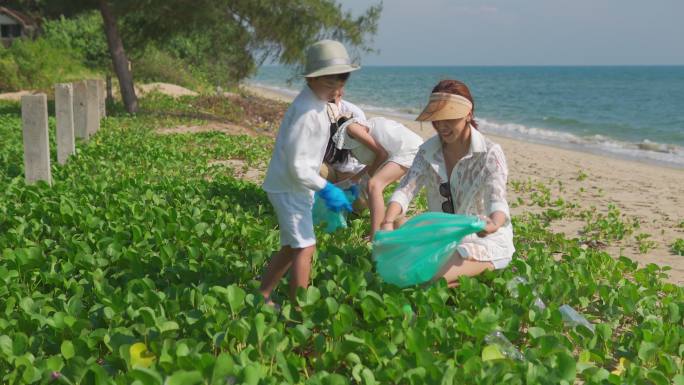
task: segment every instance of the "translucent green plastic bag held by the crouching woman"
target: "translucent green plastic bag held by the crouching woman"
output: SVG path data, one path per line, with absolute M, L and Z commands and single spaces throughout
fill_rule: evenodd
M 394 231 L 378 231 L 373 259 L 385 282 L 399 287 L 431 280 L 466 235 L 485 222 L 474 216 L 429 212 L 411 218 Z

